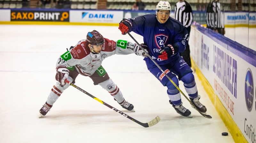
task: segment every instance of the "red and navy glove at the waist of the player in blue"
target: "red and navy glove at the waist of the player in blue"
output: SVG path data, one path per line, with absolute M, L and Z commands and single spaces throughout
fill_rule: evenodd
M 168 44 L 167 46 L 163 47 L 159 51 L 159 56 L 161 60 L 167 60 L 172 55 L 176 54 L 178 52 L 178 48 L 173 47 L 171 44 Z

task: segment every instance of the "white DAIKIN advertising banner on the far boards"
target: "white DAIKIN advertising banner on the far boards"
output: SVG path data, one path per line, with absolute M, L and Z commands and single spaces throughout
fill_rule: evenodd
M 70 22 L 84 23 L 119 23 L 123 19 L 123 11 L 69 11 Z

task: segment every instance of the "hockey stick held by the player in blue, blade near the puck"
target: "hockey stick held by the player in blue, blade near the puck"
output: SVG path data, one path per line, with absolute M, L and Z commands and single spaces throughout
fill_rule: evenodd
M 138 44 L 138 45 L 140 46 L 140 44 L 132 37 L 132 35 L 131 35 L 129 32 L 128 32 L 127 34 L 135 41 L 136 44 Z M 205 115 L 205 114 L 203 114 L 202 112 L 200 112 L 200 111 L 196 108 L 196 106 L 188 99 L 188 97 L 180 90 L 180 88 L 172 81 L 172 79 L 164 72 L 164 70 L 156 63 L 156 61 L 154 61 L 154 59 L 153 59 L 151 56 L 149 56 L 148 52 L 146 52 L 145 49 L 142 48 L 141 46 L 140 46 L 140 48 L 146 53 L 146 55 L 154 62 L 154 64 L 156 64 L 156 66 L 161 70 L 161 72 L 164 73 L 164 75 L 172 82 L 172 84 L 180 91 L 180 93 L 188 100 L 188 102 L 190 102 L 190 104 L 191 104 L 201 115 L 203 115 L 203 116 L 206 117 L 206 118 L 212 118 L 212 116 L 210 116 L 210 115 Z

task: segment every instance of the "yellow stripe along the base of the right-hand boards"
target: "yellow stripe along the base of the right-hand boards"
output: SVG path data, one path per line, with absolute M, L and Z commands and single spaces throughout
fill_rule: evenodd
M 234 141 L 236 143 L 247 143 L 247 140 L 244 138 L 244 135 L 232 119 L 232 117 L 229 115 L 227 109 L 224 107 L 222 102 L 220 101 L 219 97 L 217 94 L 215 94 L 212 86 L 208 82 L 208 80 L 204 77 L 203 73 L 200 71 L 198 66 L 195 64 L 194 60 L 191 59 L 191 64 L 192 67 L 195 68 L 196 70 L 196 75 L 200 79 L 205 92 L 208 94 L 210 100 L 212 101 L 213 106 L 217 110 L 217 112 L 220 115 L 220 118 L 224 122 L 224 124 L 227 126 L 229 132 L 231 133 Z

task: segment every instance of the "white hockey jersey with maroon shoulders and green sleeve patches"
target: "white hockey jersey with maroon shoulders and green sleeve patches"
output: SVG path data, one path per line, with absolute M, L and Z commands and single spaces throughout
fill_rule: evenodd
M 56 67 L 64 65 L 69 69 L 76 68 L 81 75 L 90 76 L 100 67 L 106 57 L 134 53 L 134 43 L 125 40 L 113 41 L 104 38 L 99 54 L 93 54 L 88 44 L 86 39 L 79 41 L 74 48 L 59 57 Z

